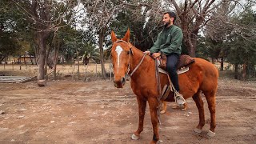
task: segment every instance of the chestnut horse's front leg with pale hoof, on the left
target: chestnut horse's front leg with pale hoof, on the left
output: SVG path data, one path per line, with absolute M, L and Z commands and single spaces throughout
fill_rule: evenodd
M 137 97 L 138 102 L 138 130 L 134 132 L 134 134 L 131 136 L 132 139 L 138 140 L 139 134 L 143 131 L 143 123 L 144 123 L 144 116 L 145 116 L 145 110 L 146 110 L 146 100 L 143 98 Z

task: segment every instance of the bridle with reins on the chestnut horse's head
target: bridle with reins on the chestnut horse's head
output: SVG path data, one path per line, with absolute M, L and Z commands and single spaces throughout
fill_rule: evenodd
M 114 42 L 114 43 L 113 43 L 113 46 L 114 46 L 114 44 L 117 43 L 117 42 L 125 42 L 125 43 L 129 46 L 129 48 L 130 48 L 130 51 L 129 51 L 129 64 L 128 64 L 128 69 L 127 69 L 127 71 L 126 71 L 126 77 L 130 78 L 130 77 L 134 74 L 134 72 L 135 72 L 136 70 L 138 70 L 138 67 L 142 64 L 142 62 L 143 62 L 143 60 L 144 60 L 146 54 L 145 54 L 145 53 L 143 54 L 143 57 L 142 57 L 141 61 L 140 61 L 140 62 L 138 63 L 138 65 L 134 68 L 134 70 L 129 74 L 129 72 L 130 72 L 130 62 L 131 62 L 131 54 L 133 54 L 133 51 L 131 50 L 132 46 L 130 46 L 130 43 L 129 43 L 129 42 L 126 42 L 126 41 L 124 41 L 124 40 L 122 40 L 122 39 L 119 39 L 118 41 Z

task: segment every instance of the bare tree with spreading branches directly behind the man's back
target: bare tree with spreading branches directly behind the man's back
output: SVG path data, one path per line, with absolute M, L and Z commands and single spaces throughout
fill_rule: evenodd
M 210 11 L 214 10 L 219 5 L 219 2 L 215 0 L 195 0 L 194 2 L 185 0 L 180 5 L 174 0 L 169 0 L 169 2 L 174 5 L 181 20 L 184 42 L 189 54 L 195 57 L 199 30 L 210 21 Z

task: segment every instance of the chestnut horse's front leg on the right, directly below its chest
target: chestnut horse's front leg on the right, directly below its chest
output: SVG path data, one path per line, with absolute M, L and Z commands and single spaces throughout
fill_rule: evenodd
M 158 106 L 159 102 L 157 98 L 151 97 L 148 98 L 149 106 L 150 106 L 150 116 L 151 116 L 151 123 L 153 126 L 153 139 L 150 143 L 157 143 L 159 140 L 158 134 Z

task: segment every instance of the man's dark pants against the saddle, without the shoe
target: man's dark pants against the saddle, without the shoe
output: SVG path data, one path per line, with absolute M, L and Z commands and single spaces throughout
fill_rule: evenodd
M 177 63 L 179 54 L 170 54 L 167 56 L 166 69 L 170 75 L 170 80 L 174 84 L 174 88 L 179 91 L 178 87 L 178 74 L 177 74 Z

